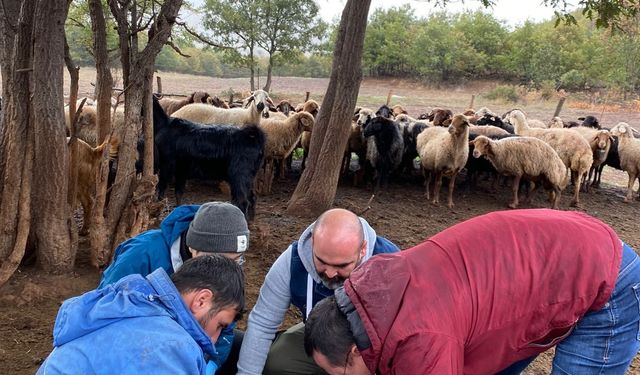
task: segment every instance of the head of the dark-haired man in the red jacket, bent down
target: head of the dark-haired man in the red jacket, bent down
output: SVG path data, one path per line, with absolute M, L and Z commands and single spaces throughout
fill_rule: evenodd
M 304 326 L 304 350 L 329 375 L 369 375 L 347 316 L 335 297 L 320 301 Z

